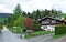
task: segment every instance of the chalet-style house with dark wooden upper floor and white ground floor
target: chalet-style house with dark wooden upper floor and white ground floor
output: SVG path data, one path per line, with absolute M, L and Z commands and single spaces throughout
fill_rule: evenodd
M 41 29 L 45 31 L 55 31 L 55 27 L 59 24 L 66 24 L 64 20 L 59 20 L 56 18 L 45 17 L 38 20 L 42 24 Z

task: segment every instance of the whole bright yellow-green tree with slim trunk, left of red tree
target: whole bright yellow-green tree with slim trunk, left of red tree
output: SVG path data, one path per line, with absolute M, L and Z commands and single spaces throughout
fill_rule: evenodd
M 24 21 L 25 21 L 25 17 L 24 15 L 20 15 L 15 21 L 14 21 L 14 25 L 15 27 L 19 27 L 19 29 L 21 29 L 21 38 L 22 38 L 22 33 L 23 33 L 23 30 L 25 29 L 25 25 L 24 25 Z

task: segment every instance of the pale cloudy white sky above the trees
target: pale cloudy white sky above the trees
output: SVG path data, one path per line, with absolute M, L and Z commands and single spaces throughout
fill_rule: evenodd
M 18 3 L 25 12 L 55 9 L 66 13 L 66 0 L 0 0 L 0 13 L 13 13 Z

